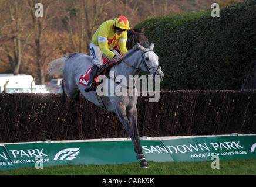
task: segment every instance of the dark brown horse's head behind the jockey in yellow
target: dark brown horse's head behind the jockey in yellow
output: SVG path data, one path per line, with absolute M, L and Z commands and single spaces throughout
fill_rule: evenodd
M 139 29 L 130 29 L 127 32 L 127 42 L 126 47 L 127 49 L 132 49 L 136 43 L 139 43 L 143 47 L 149 47 L 149 40 L 147 40 L 146 36 L 144 35 L 144 28 L 142 30 Z

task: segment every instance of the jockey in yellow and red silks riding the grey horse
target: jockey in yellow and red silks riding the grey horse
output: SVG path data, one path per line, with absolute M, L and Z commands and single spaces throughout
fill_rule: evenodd
M 110 61 L 122 60 L 127 53 L 126 41 L 129 30 L 129 21 L 124 16 L 117 16 L 114 20 L 107 20 L 96 30 L 90 43 L 90 55 L 93 58 L 93 68 L 90 72 L 89 81 L 85 88 L 86 92 L 95 89 L 92 86 L 93 79 L 96 77 L 97 70 L 103 64 L 102 55 Z M 113 49 L 119 43 L 120 53 Z

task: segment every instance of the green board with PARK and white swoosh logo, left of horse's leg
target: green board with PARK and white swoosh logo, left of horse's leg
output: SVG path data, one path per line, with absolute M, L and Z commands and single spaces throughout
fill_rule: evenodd
M 136 162 L 132 141 L 6 144 L 16 168 Z

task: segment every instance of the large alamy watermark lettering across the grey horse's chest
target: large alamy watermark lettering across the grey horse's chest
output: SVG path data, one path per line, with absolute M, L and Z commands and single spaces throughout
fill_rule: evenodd
M 114 75 L 109 72 L 109 77 L 99 76 L 96 82 L 102 82 L 97 86 L 98 96 L 154 96 L 149 102 L 158 102 L 160 98 L 160 76 L 159 75 Z M 140 92 L 141 91 L 141 92 Z

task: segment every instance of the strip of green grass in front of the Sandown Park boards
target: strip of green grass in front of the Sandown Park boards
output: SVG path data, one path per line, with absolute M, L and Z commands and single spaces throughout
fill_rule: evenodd
M 18 168 L 0 171 L 0 175 L 256 175 L 256 159 L 220 161 L 220 169 L 208 162 L 139 162 L 116 165 L 65 165 L 43 169 Z

